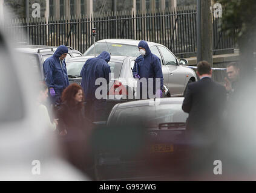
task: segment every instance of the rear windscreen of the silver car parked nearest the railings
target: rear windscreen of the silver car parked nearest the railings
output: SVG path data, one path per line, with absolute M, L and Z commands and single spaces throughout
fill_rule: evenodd
M 111 55 L 127 55 L 138 57 L 140 55 L 139 49 L 135 45 L 125 45 L 120 43 L 104 43 L 98 42 L 95 44 L 96 55 L 101 54 L 103 51 L 110 52 Z M 94 55 L 94 45 L 92 45 L 84 55 Z

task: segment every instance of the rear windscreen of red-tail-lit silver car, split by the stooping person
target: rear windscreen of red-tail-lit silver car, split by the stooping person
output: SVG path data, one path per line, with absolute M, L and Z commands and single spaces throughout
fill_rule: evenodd
M 85 62 L 67 62 L 68 75 L 80 76 L 80 72 Z M 110 65 L 111 78 L 119 78 L 120 71 L 122 68 L 121 62 L 108 62 Z

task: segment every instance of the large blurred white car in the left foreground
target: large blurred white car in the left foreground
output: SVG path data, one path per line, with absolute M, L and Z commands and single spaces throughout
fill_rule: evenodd
M 0 180 L 91 180 L 61 156 L 57 133 L 39 110 L 36 69 L 11 49 L 5 27 L 0 17 Z

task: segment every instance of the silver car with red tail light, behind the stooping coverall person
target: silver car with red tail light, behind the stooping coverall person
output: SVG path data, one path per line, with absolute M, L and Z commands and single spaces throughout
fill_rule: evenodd
M 80 72 L 85 62 L 92 56 L 73 57 L 66 61 L 68 80 L 70 84 L 81 84 Z M 111 78 L 107 88 L 107 114 L 117 103 L 123 103 L 136 98 L 137 80 L 133 78 L 135 57 L 111 55 L 110 65 Z

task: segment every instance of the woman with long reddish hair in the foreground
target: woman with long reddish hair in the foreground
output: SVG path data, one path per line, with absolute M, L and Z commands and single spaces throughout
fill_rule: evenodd
M 62 93 L 58 118 L 62 147 L 68 161 L 79 169 L 86 169 L 91 161 L 92 122 L 85 118 L 84 93 L 78 84 L 71 84 Z

